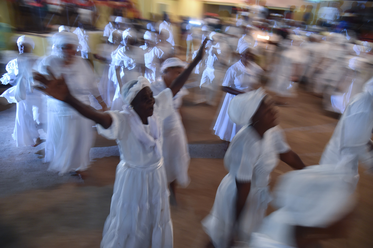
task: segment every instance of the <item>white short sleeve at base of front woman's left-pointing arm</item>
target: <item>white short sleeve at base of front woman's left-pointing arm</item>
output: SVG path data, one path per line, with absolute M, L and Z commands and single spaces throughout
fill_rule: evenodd
M 97 124 L 97 133 L 109 140 L 122 139 L 125 130 L 129 128 L 126 114 L 118 110 L 106 112 L 112 117 L 112 124 L 109 128 Z

